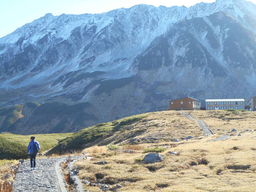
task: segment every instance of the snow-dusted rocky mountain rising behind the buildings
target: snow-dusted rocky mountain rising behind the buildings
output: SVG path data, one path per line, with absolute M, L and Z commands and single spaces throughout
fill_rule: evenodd
M 256 5 L 216 0 L 44 17 L 0 38 L 0 106 L 90 102 L 98 121 L 183 96 L 256 94 Z

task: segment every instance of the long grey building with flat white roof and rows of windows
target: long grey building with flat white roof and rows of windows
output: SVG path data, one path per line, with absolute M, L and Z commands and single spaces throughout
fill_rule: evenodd
M 206 110 L 244 109 L 244 99 L 206 99 Z

